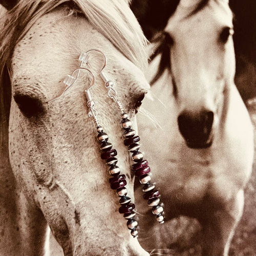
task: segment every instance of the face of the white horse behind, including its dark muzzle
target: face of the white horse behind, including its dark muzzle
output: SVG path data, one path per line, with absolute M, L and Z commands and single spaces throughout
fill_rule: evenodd
M 224 94 L 233 83 L 232 31 L 232 14 L 223 1 L 209 1 L 194 11 L 180 4 L 165 29 L 178 125 L 189 147 L 208 147 L 214 138 Z

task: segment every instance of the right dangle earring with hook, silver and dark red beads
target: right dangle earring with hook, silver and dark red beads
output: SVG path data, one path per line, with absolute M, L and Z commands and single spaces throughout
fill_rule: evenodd
M 132 159 L 134 164 L 132 165 L 132 170 L 136 177 L 139 177 L 140 183 L 143 185 L 142 191 L 144 193 L 143 198 L 147 200 L 147 205 L 152 207 L 152 213 L 156 216 L 159 223 L 164 223 L 163 217 L 163 207 L 160 204 L 160 193 L 155 189 L 155 185 L 151 183 L 151 176 L 148 175 L 151 171 L 150 166 L 148 166 L 147 160 L 143 160 L 143 154 L 139 151 L 140 137 L 136 135 L 135 130 L 132 129 L 132 122 L 128 119 L 127 113 L 124 112 L 121 102 L 116 97 L 116 91 L 114 90 L 114 82 L 109 80 L 108 77 L 103 73 L 106 66 L 106 56 L 99 50 L 90 50 L 86 53 L 80 55 L 80 60 L 84 61 L 88 58 L 88 54 L 92 51 L 99 52 L 104 57 L 104 65 L 100 71 L 100 77 L 105 83 L 106 89 L 108 89 L 108 96 L 117 104 L 121 113 L 121 127 L 124 136 L 124 145 L 127 146 L 127 150 L 132 154 Z M 84 61 L 85 62 L 85 61 Z

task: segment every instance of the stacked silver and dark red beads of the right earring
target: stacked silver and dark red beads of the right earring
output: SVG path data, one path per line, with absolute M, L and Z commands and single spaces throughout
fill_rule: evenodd
M 148 175 L 151 171 L 147 160 L 143 160 L 143 154 L 139 151 L 140 137 L 136 136 L 132 129 L 132 122 L 127 119 L 126 113 L 121 114 L 121 126 L 124 130 L 124 145 L 128 147 L 128 151 L 132 153 L 132 159 L 135 162 L 132 169 L 136 177 L 139 177 L 140 183 L 143 185 L 142 191 L 145 193 L 143 198 L 147 200 L 147 205 L 153 207 L 152 213 L 156 216 L 159 223 L 164 223 L 163 207 L 160 205 L 160 193 L 155 189 L 155 185 L 151 183 L 151 176 Z

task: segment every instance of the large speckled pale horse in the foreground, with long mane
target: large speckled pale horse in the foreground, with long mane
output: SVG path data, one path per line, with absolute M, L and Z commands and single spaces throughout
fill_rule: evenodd
M 108 58 L 106 72 L 135 119 L 148 86 L 141 71 L 147 54 L 128 4 L 20 1 L 1 24 L 0 254 L 45 254 L 49 224 L 65 255 L 148 255 L 118 213 L 118 197 L 100 159 L 85 105 L 89 74 L 64 98 L 48 103 L 62 93 L 62 81 L 78 67 L 79 55 L 96 48 Z M 88 63 L 98 74 L 102 56 Z M 133 199 L 119 110 L 96 79 L 99 119 L 118 150 Z

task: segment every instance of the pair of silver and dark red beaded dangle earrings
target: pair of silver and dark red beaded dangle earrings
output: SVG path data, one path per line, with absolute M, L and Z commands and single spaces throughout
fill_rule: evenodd
M 127 150 L 132 154 L 132 160 L 134 164 L 132 165 L 132 171 L 135 176 L 139 178 L 140 183 L 143 185 L 142 191 L 144 193 L 143 198 L 147 200 L 147 205 L 152 207 L 152 213 L 156 216 L 159 223 L 164 223 L 163 217 L 163 207 L 160 204 L 160 193 L 155 189 L 155 185 L 151 183 L 151 176 L 148 175 L 151 172 L 150 166 L 148 166 L 147 160 L 143 159 L 143 154 L 139 151 L 140 137 L 136 135 L 135 130 L 132 129 L 132 122 L 128 119 L 128 115 L 125 113 L 121 102 L 117 99 L 116 91 L 114 89 L 114 83 L 108 79 L 104 74 L 103 70 L 106 67 L 106 56 L 100 50 L 89 50 L 86 53 L 82 53 L 79 57 L 80 67 L 76 69 L 72 75 L 68 75 L 63 81 L 66 84 L 66 89 L 62 93 L 65 94 L 77 81 L 79 74 L 82 70 L 86 70 L 92 76 L 92 83 L 89 89 L 85 90 L 87 98 L 87 106 L 89 108 L 89 117 L 93 119 L 97 131 L 97 139 L 100 143 L 101 159 L 105 160 L 106 165 L 109 166 L 109 173 L 112 178 L 109 179 L 110 186 L 112 189 L 116 190 L 119 199 L 119 213 L 123 214 L 123 217 L 127 220 L 127 227 L 131 230 L 133 237 L 138 236 L 138 222 L 134 219 L 136 212 L 134 211 L 135 204 L 131 202 L 131 198 L 127 196 L 127 189 L 125 185 L 127 184 L 125 180 L 125 175 L 120 174 L 120 168 L 117 166 L 118 159 L 117 151 L 113 149 L 112 143 L 109 141 L 109 136 L 103 131 L 98 118 L 97 111 L 95 110 L 95 101 L 93 100 L 91 94 L 91 88 L 95 83 L 94 74 L 83 65 L 86 65 L 91 52 L 97 52 L 104 57 L 104 64 L 100 71 L 100 77 L 105 83 L 105 88 L 108 90 L 108 96 L 116 103 L 121 114 L 121 129 L 123 130 L 124 145 L 127 146 Z M 59 97 L 61 97 L 60 95 Z M 58 98 L 59 98 L 58 97 Z M 57 98 L 49 101 L 52 102 Z

